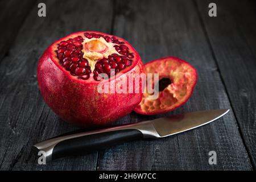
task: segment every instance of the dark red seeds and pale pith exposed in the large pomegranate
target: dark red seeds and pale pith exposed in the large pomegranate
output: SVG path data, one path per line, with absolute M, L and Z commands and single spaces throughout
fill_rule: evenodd
M 126 67 L 130 67 L 134 59 L 133 50 L 129 49 L 129 45 L 126 46 L 125 42 L 120 42 L 118 38 L 113 36 L 110 38 L 110 36 L 104 36 L 94 32 L 85 32 L 84 35 L 62 40 L 58 44 L 56 53 L 59 63 L 62 64 L 67 71 L 70 71 L 71 75 L 77 76 L 83 80 L 85 80 L 85 78 L 88 79 L 90 75 L 81 77 L 80 75 L 85 73 L 75 72 L 77 67 L 85 68 L 90 65 L 90 68 L 96 69 L 98 73 L 106 73 L 109 75 L 111 68 L 115 69 L 116 74 Z M 73 63 L 77 64 L 72 64 L 68 67 L 67 64 L 69 65 L 69 62 L 65 63 L 67 60 L 71 60 Z M 84 60 L 88 60 L 88 64 L 85 63 Z M 95 62 L 102 64 L 98 64 L 97 67 L 94 67 Z M 79 70 L 81 71 L 82 69 Z M 97 78 L 97 75 L 94 76 L 94 80 L 95 78 Z

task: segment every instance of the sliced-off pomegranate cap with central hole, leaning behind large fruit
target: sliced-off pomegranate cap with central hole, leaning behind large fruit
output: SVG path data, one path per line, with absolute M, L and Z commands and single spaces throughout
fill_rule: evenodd
M 147 84 L 158 85 L 159 96 L 150 100 L 150 94 L 143 94 L 141 103 L 134 111 L 139 114 L 153 115 L 166 113 L 180 107 L 188 101 L 197 81 L 197 72 L 192 65 L 177 57 L 163 57 L 145 65 L 145 72 L 159 73 L 159 81 Z M 146 87 L 145 87 L 146 89 Z

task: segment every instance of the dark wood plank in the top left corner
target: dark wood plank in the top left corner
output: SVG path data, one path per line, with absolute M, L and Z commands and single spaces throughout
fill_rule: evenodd
M 35 1 L 0 1 L 0 60 L 8 53 L 10 46 L 13 44 L 16 35 L 24 19 L 30 13 Z

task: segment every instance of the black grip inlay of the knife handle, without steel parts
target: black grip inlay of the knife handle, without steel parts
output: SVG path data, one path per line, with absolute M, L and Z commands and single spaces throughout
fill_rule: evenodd
M 142 138 L 141 131 L 125 129 L 66 139 L 53 147 L 52 160 L 63 158 L 64 156 L 88 154 L 92 151 L 104 150 L 115 144 Z

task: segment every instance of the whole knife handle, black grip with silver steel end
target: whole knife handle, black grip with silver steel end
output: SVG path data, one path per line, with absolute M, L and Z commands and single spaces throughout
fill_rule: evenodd
M 79 137 L 75 135 L 72 138 L 71 135 L 66 135 L 61 137 L 59 141 L 58 138 L 52 138 L 35 144 L 34 150 L 46 152 L 46 161 L 48 162 L 63 158 L 64 156 L 88 154 L 89 152 L 103 150 L 115 144 L 142 138 L 142 132 L 137 129 L 106 131 L 104 133 L 86 134 Z

